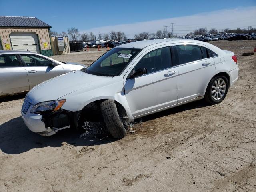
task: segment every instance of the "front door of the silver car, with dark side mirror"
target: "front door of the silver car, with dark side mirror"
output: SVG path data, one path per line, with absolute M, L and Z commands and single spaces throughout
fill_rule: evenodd
M 28 73 L 30 89 L 41 82 L 64 74 L 61 65 L 53 65 L 51 60 L 35 54 L 20 54 L 20 58 Z

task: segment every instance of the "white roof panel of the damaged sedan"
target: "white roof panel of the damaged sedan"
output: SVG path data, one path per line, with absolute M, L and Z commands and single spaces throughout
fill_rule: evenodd
M 126 43 L 126 44 L 121 44 L 118 47 L 119 48 L 138 48 L 138 49 L 143 49 L 147 46 L 154 45 L 154 44 L 162 44 L 165 42 L 170 42 L 170 43 L 180 43 L 180 42 L 198 42 L 193 39 L 178 39 L 178 38 L 173 38 L 173 39 L 153 39 L 153 40 L 142 40 L 142 41 L 136 41 L 136 42 L 131 42 L 131 43 Z

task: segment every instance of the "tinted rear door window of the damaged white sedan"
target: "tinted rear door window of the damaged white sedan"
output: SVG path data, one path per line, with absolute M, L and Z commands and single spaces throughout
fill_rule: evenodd
M 197 45 L 176 45 L 176 55 L 179 64 L 189 63 L 203 58 L 201 48 Z

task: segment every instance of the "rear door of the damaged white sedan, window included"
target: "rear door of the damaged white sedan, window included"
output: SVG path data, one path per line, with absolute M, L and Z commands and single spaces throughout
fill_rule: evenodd
M 178 62 L 178 103 L 204 95 L 210 79 L 216 74 L 214 59 L 204 45 L 174 46 Z

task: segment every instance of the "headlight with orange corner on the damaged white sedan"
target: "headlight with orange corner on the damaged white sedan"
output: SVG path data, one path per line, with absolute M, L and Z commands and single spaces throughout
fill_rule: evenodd
M 59 110 L 65 102 L 66 99 L 38 103 L 36 106 L 32 108 L 30 113 L 43 114 L 55 112 Z

